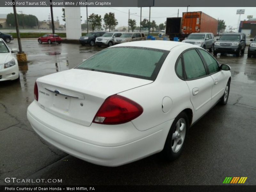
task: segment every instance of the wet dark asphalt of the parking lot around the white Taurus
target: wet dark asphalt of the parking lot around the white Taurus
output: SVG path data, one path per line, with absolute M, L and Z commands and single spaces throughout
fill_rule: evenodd
M 18 48 L 17 41 L 8 44 Z M 103 48 L 38 44 L 22 40 L 28 63 L 20 80 L 0 83 L 0 185 L 7 177 L 62 179 L 61 185 L 221 185 L 225 177 L 248 177 L 256 185 L 256 57 L 218 55 L 231 66 L 228 104 L 216 105 L 191 127 L 179 159 L 159 154 L 119 167 L 94 165 L 47 144 L 31 128 L 26 112 L 38 77 L 75 67 Z M 29 183 L 27 183 L 29 184 Z M 52 184 L 52 183 L 33 183 Z

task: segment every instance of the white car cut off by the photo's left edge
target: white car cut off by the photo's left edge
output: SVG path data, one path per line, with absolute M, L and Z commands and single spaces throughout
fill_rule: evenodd
M 18 52 L 18 49 L 9 49 L 4 40 L 0 38 L 0 81 L 19 78 L 18 61 L 12 55 L 13 52 Z

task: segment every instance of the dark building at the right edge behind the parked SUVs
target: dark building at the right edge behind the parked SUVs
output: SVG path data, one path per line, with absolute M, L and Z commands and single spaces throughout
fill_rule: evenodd
M 239 25 L 239 32 L 245 33 L 246 37 L 252 38 L 256 36 L 256 18 L 241 21 Z

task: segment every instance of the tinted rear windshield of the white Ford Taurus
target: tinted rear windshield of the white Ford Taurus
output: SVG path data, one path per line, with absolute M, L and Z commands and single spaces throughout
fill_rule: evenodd
M 168 53 L 143 47 L 113 47 L 98 52 L 76 68 L 154 81 Z

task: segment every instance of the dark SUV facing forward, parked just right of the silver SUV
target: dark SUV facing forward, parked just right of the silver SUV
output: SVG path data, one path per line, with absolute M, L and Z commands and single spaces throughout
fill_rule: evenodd
M 239 57 L 244 53 L 246 38 L 244 33 L 224 33 L 214 44 L 213 55 L 231 53 Z

